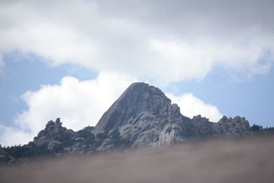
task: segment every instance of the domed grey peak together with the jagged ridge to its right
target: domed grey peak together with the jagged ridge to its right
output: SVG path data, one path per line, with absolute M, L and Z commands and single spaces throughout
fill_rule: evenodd
M 250 132 L 245 118 L 223 117 L 212 123 L 200 115 L 184 117 L 159 88 L 134 83 L 103 114 L 95 133 L 116 129 L 132 147 L 174 145 L 188 138 L 243 136 Z

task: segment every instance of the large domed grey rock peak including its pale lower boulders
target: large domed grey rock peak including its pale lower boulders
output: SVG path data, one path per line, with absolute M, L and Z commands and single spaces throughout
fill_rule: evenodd
M 133 147 L 171 145 L 182 141 L 184 135 L 178 131 L 182 126 L 176 123 L 184 119 L 177 104 L 171 105 L 159 88 L 138 82 L 130 85 L 103 114 L 95 133 L 117 129 Z

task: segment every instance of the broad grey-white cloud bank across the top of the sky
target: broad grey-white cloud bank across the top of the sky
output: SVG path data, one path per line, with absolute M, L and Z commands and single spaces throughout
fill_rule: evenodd
M 265 59 L 274 54 L 271 2 L 138 2 L 3 1 L 0 53 L 32 52 L 53 65 L 158 84 L 201 80 L 214 66 L 252 77 L 273 64 Z

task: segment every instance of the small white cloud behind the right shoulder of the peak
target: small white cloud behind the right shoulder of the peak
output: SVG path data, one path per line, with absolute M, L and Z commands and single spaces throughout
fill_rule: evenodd
M 194 117 L 201 114 L 202 117 L 208 118 L 212 122 L 217 122 L 223 114 L 219 112 L 216 106 L 212 106 L 210 103 L 204 103 L 201 99 L 198 99 L 192 93 L 184 93 L 179 96 L 175 96 L 172 93 L 166 93 L 173 103 L 177 103 L 182 114 L 186 117 Z

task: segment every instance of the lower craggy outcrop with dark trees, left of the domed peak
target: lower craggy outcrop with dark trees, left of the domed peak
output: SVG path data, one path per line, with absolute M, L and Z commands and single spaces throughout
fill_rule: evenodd
M 125 148 L 128 141 L 121 139 L 116 130 L 106 133 L 94 133 L 94 127 L 85 127 L 73 132 L 62 127 L 60 119 L 49 121 L 44 130 L 41 130 L 34 141 L 23 148 L 27 149 L 28 156 L 42 154 L 59 156 L 63 153 L 90 154 L 96 151 L 108 151 L 115 148 Z M 29 154 L 29 151 L 31 154 Z

